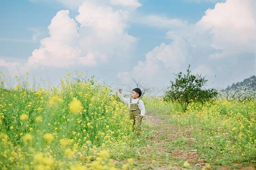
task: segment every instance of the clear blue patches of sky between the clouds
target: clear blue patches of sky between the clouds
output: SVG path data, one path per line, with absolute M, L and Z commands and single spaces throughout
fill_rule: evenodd
M 54 2 L 54 1 L 52 1 Z M 55 2 L 30 2 L 28 0 L 1 1 L 0 54 L 7 60 L 27 59 L 40 45 L 40 38 L 49 36 L 47 26 L 59 10 L 68 9 Z M 181 18 L 195 23 L 204 15 L 205 10 L 214 8 L 213 2 L 187 2 L 182 0 L 141 0 L 136 12 L 139 14 L 159 14 L 170 18 Z M 178 8 L 177 8 L 178 7 Z M 70 10 L 74 18 L 77 10 Z M 33 40 L 34 29 L 40 31 L 37 40 Z M 144 32 L 144 30 L 147 32 Z M 165 34 L 168 29 L 156 29 L 131 23 L 128 33 L 140 37 L 138 55 L 145 54 L 161 42 L 168 42 Z M 7 39 L 7 40 L 6 40 Z M 21 41 L 24 42 L 21 42 Z M 19 49 L 19 50 L 13 50 Z M 12 59 L 10 59 L 12 58 Z

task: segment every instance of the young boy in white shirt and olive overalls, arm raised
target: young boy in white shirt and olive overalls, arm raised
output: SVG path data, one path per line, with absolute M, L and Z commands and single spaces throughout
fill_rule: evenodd
M 135 88 L 132 90 L 131 98 L 124 98 L 122 94 L 122 89 L 119 89 L 119 97 L 124 103 L 128 103 L 130 109 L 130 119 L 133 120 L 133 127 L 136 130 L 136 134 L 140 134 L 141 131 L 141 121 L 145 116 L 146 109 L 142 100 L 139 99 L 141 96 L 141 90 Z

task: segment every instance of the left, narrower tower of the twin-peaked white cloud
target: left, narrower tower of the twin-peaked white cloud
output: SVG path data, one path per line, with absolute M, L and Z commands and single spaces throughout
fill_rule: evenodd
M 80 57 L 81 50 L 76 47 L 78 28 L 74 19 L 69 17 L 68 10 L 59 11 L 48 26 L 50 37 L 41 40 L 39 49 L 32 52 L 28 65 L 67 67 Z

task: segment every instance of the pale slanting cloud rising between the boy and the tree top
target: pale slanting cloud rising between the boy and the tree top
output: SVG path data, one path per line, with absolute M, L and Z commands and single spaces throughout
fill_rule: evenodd
M 182 39 L 175 39 L 168 45 L 162 43 L 146 54 L 146 61 L 138 61 L 138 65 L 132 71 L 118 73 L 118 77 L 123 83 L 130 83 L 135 78 L 162 86 L 169 81 L 166 77 L 169 78 L 186 63 L 189 50 L 188 43 Z

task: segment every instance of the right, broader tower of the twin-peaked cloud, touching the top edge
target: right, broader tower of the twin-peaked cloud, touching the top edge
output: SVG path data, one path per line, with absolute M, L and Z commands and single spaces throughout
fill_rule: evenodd
M 79 43 L 84 52 L 99 53 L 106 61 L 110 57 L 127 57 L 134 49 L 137 38 L 126 33 L 128 12 L 92 2 L 84 2 L 78 12 Z

